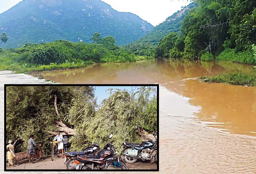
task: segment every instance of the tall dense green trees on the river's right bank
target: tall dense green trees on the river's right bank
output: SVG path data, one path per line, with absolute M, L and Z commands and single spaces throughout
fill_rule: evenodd
M 182 21 L 181 33 L 169 50 L 170 57 L 202 58 L 210 52 L 217 60 L 256 64 L 250 52 L 256 42 L 256 1 L 195 0 L 195 3 L 198 6 Z M 171 38 L 169 41 L 172 42 Z

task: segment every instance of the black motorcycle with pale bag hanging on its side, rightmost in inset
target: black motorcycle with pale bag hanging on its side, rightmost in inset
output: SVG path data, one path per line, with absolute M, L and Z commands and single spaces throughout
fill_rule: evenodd
M 132 164 L 138 159 L 143 161 L 151 160 L 151 163 L 157 160 L 157 133 L 155 130 L 153 136 L 155 140 L 148 138 L 147 141 L 144 141 L 141 144 L 123 142 L 122 154 L 125 161 Z

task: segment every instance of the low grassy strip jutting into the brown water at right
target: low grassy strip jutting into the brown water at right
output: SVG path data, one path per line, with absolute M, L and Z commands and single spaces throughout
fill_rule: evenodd
M 256 86 L 256 73 L 227 73 L 218 76 L 201 77 L 203 82 L 228 83 L 232 85 Z

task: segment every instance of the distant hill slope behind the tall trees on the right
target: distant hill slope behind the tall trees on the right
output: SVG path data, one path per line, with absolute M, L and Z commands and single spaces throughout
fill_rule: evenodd
M 195 4 L 191 3 L 188 6 L 183 7 L 180 11 L 177 11 L 172 16 L 168 17 L 164 22 L 160 23 L 148 34 L 142 36 L 135 42 L 157 45 L 160 39 L 168 35 L 170 32 L 179 32 L 183 18 L 194 6 Z

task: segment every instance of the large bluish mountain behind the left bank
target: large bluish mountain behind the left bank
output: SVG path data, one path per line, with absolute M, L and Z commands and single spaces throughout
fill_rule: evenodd
M 94 32 L 113 36 L 117 45 L 123 45 L 154 27 L 137 15 L 117 12 L 100 0 L 23 0 L 0 14 L 0 28 L 10 37 L 0 47 L 18 48 L 23 43 L 59 39 L 90 42 Z

